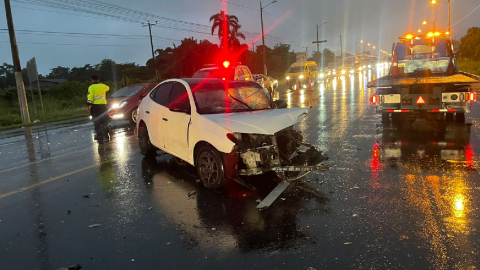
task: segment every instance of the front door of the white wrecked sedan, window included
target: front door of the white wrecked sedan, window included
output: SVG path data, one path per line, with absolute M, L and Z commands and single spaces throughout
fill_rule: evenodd
M 182 103 L 188 112 L 191 112 L 187 89 L 180 82 L 175 82 L 170 95 L 169 104 L 171 105 L 175 102 Z M 167 110 L 162 119 L 165 126 L 165 149 L 182 159 L 188 159 L 188 127 L 190 119 L 190 113 L 170 110 Z

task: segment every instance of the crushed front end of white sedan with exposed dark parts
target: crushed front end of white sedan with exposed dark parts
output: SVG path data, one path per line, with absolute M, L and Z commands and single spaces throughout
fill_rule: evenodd
M 253 176 L 274 171 L 280 180 L 291 182 L 312 171 L 328 170 L 322 165 L 328 157 L 316 147 L 303 142 L 303 135 L 293 126 L 274 135 L 234 133 L 237 173 Z

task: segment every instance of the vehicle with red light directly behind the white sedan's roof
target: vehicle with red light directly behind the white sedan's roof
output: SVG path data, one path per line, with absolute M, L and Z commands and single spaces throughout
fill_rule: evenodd
M 245 65 L 230 64 L 229 61 L 222 65 L 211 65 L 200 69 L 192 78 L 210 78 L 227 81 L 250 81 L 253 79 L 252 72 Z

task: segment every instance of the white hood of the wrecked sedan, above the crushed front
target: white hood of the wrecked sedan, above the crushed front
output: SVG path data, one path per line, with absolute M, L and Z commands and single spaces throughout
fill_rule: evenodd
M 291 108 L 202 116 L 232 132 L 274 135 L 302 121 L 307 114 L 307 108 Z

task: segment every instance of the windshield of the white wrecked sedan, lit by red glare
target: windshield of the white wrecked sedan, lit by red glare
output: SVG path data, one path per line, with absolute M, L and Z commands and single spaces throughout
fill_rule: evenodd
M 200 114 L 217 114 L 272 109 L 265 90 L 253 83 L 205 84 L 193 91 Z

